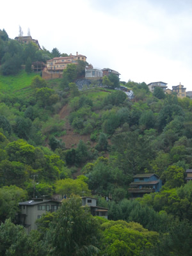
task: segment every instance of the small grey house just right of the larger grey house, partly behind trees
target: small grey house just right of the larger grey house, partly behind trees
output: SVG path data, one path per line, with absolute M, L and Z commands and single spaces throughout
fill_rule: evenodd
M 93 216 L 100 216 L 108 219 L 108 208 L 97 206 L 97 199 L 90 196 L 82 196 L 82 205 L 88 205 Z

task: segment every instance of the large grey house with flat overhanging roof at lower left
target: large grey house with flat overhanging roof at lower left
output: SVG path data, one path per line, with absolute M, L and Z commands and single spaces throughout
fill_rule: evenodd
M 26 232 L 36 229 L 35 221 L 42 217 L 46 212 L 53 212 L 58 209 L 61 202 L 56 200 L 35 199 L 26 202 L 20 202 L 20 224 L 26 227 Z

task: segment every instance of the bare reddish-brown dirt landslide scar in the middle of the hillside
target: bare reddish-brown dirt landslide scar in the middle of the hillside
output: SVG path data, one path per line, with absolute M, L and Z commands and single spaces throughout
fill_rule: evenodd
M 72 127 L 70 126 L 68 122 L 67 116 L 70 114 L 70 107 L 67 105 L 63 106 L 60 110 L 60 118 L 65 120 L 65 131 L 66 134 L 61 136 L 60 139 L 65 142 L 65 147 L 68 148 L 76 148 L 77 144 L 79 143 L 79 140 L 83 140 L 85 143 L 87 141 L 90 141 L 90 147 L 94 147 L 96 145 L 95 142 L 90 140 L 90 135 L 80 135 L 78 133 L 75 133 Z

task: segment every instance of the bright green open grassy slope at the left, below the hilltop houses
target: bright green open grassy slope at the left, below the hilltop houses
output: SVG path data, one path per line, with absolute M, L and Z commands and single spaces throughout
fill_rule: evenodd
M 27 74 L 22 70 L 15 76 L 0 76 L 0 92 L 19 96 L 21 94 L 20 90 L 22 90 L 22 94 L 27 96 L 31 92 L 29 84 L 31 84 L 33 77 L 37 75 L 38 73 Z

